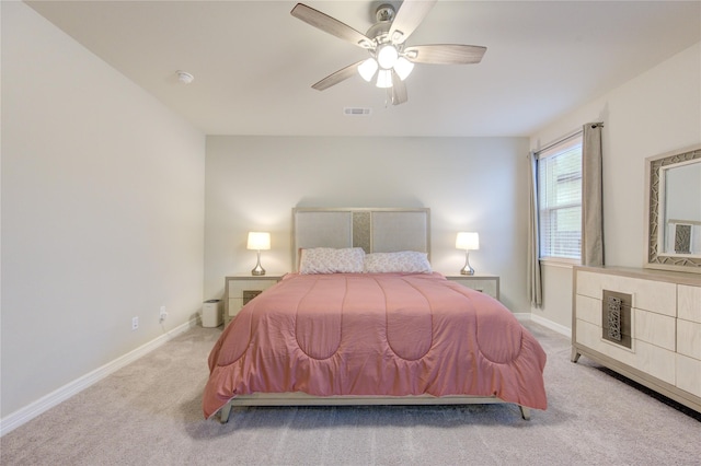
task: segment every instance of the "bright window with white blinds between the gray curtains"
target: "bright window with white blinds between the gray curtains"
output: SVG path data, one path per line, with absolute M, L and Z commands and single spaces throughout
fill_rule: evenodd
M 582 135 L 538 153 L 540 258 L 582 258 Z

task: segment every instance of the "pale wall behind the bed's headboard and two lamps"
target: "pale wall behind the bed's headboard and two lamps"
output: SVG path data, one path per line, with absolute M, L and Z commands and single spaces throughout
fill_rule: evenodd
M 432 264 L 458 272 L 458 231 L 478 231 L 478 272 L 502 278 L 502 301 L 526 296 L 526 138 L 207 137 L 205 298 L 249 272 L 246 232 L 272 232 L 268 272 L 290 271 L 294 207 L 428 207 Z

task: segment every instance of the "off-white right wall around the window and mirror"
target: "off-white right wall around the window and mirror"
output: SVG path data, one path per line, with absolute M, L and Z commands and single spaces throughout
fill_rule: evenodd
M 588 121 L 605 123 L 606 264 L 642 267 L 645 159 L 701 142 L 701 43 L 558 119 L 530 145 L 538 149 Z M 545 266 L 543 275 L 543 307 L 533 315 L 571 328 L 572 270 Z

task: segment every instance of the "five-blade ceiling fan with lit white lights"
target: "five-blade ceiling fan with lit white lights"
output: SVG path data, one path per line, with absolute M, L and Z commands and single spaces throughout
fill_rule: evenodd
M 329 16 L 303 3 L 297 3 L 290 12 L 292 16 L 312 26 L 349 42 L 369 51 L 370 58 L 327 75 L 312 88 L 323 91 L 353 77 L 358 72 L 370 82 L 388 91 L 392 105 L 407 101 L 404 80 L 414 63 L 467 65 L 479 63 L 486 47 L 460 44 L 434 44 L 407 46 L 405 40 L 418 27 L 437 0 L 404 0 L 399 10 L 389 3 L 376 10 L 375 23 L 366 34 L 361 34 L 341 21 Z

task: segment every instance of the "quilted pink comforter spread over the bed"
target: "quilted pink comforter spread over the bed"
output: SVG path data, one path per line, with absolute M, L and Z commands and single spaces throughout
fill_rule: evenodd
M 238 395 L 475 395 L 545 409 L 545 353 L 498 301 L 439 273 L 287 276 L 209 354 L 203 409 Z

